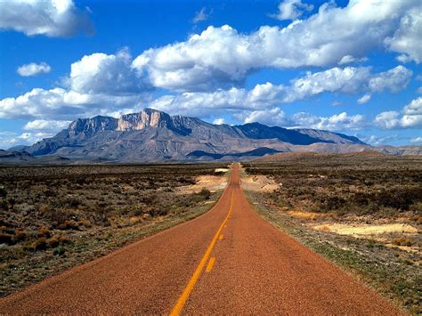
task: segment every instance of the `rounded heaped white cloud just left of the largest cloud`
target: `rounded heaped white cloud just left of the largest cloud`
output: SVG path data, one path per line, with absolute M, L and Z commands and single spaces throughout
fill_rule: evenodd
M 126 49 L 117 54 L 93 53 L 70 66 L 68 83 L 78 93 L 130 94 L 150 90 L 148 81 L 132 68 Z

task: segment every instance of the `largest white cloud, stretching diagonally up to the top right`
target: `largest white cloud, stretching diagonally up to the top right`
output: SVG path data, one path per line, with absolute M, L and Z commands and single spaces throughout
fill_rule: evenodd
M 228 25 L 211 26 L 185 42 L 145 51 L 133 66 L 148 72 L 155 86 L 192 92 L 242 85 L 256 69 L 358 61 L 373 47 L 384 45 L 401 17 L 418 4 L 418 0 L 354 0 L 345 8 L 322 4 L 307 20 L 295 20 L 286 28 L 263 26 L 248 35 Z

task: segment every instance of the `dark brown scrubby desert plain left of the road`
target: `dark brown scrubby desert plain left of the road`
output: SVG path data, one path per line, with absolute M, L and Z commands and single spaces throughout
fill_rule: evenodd
M 0 167 L 0 296 L 202 214 L 176 191 L 220 166 Z

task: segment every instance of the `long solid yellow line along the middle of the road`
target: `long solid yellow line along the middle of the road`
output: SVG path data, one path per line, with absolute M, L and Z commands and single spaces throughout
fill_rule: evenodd
M 215 241 L 217 241 L 218 236 L 220 235 L 220 232 L 223 230 L 225 223 L 227 223 L 227 220 L 229 219 L 229 216 L 231 215 L 231 211 L 233 209 L 233 193 L 234 193 L 234 190 L 231 190 L 231 203 L 230 203 L 229 213 L 224 218 L 223 223 L 220 225 L 218 230 L 215 232 L 214 238 L 209 244 L 209 246 L 207 247 L 207 251 L 205 252 L 205 255 L 202 257 L 201 261 L 199 262 L 197 269 L 193 272 L 191 276 L 191 280 L 189 280 L 188 285 L 186 286 L 186 288 L 184 288 L 182 295 L 179 297 L 179 299 L 177 300 L 177 303 L 174 305 L 172 312 L 170 312 L 170 316 L 179 315 L 180 312 L 182 312 L 184 304 L 186 303 L 189 296 L 191 295 L 191 291 L 193 287 L 195 287 L 195 284 L 197 283 L 199 279 L 200 273 L 202 269 L 204 268 L 205 263 L 207 263 L 209 255 L 211 255 L 211 251 L 213 251 Z M 211 268 L 212 268 L 212 264 L 211 264 Z

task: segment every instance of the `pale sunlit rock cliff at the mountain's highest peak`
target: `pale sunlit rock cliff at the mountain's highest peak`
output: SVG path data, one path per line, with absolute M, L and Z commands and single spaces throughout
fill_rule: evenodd
M 164 127 L 171 124 L 172 118 L 157 109 L 142 109 L 139 113 L 131 113 L 118 119 L 118 131 L 137 131 L 145 127 Z

